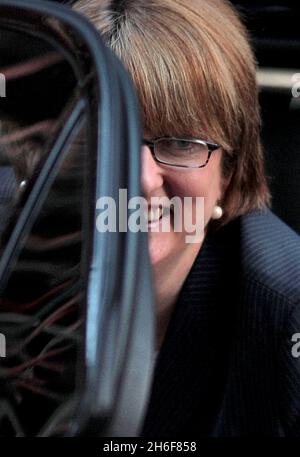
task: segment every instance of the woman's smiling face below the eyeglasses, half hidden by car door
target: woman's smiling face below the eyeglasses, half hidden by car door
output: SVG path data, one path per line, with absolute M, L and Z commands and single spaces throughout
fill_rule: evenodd
M 142 190 L 150 205 L 152 197 L 184 197 L 204 198 L 204 227 L 211 219 L 212 211 L 218 200 L 221 199 L 221 149 L 214 151 L 208 164 L 203 168 L 178 168 L 163 165 L 155 161 L 148 146 L 142 148 Z M 192 213 L 193 222 L 196 220 L 196 201 L 188 211 Z M 191 214 L 190 214 L 191 216 Z M 187 231 L 185 223 L 182 223 L 182 231 L 174 230 L 174 215 L 171 214 L 170 230 L 162 232 L 162 220 L 158 223 L 148 224 L 149 252 L 153 267 L 174 266 L 189 252 L 199 250 L 203 241 L 196 244 L 187 243 Z M 154 218 L 155 219 L 155 218 Z M 155 231 L 154 231 L 155 230 Z

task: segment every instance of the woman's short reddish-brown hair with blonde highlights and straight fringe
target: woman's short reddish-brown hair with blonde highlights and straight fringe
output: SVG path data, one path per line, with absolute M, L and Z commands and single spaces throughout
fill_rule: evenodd
M 222 225 L 270 201 L 260 141 L 255 59 L 225 0 L 79 0 L 128 69 L 144 129 L 222 146 Z

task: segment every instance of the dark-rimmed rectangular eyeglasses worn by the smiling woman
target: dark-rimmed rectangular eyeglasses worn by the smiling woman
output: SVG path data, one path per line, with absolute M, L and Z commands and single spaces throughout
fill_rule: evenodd
M 143 139 L 143 144 L 149 146 L 157 162 L 182 168 L 205 167 L 212 152 L 221 147 L 219 144 L 196 138 Z

